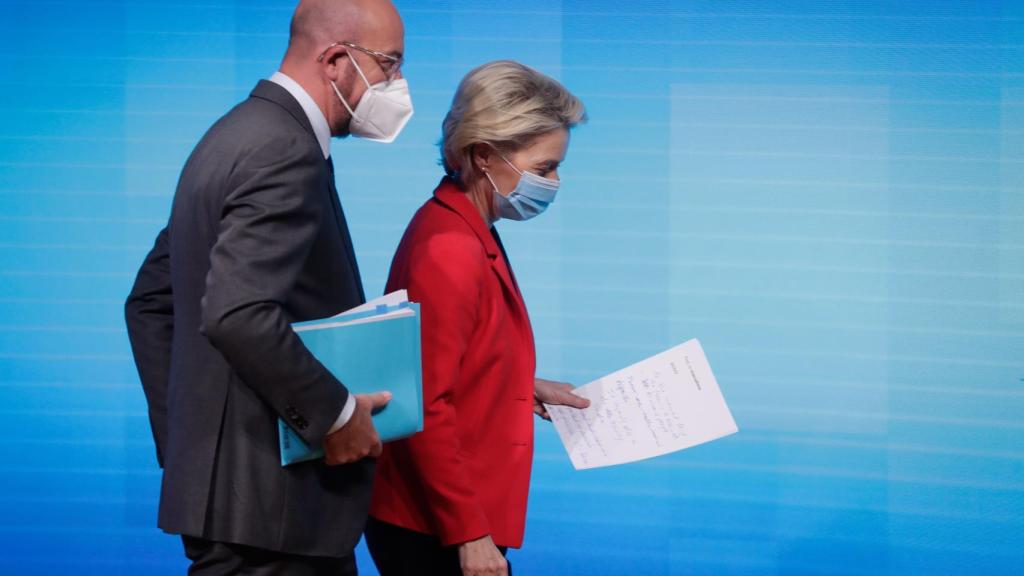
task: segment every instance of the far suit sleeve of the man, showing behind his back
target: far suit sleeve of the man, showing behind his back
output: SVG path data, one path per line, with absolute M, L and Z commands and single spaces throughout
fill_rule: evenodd
M 157 445 L 157 462 L 164 465 L 167 442 L 167 380 L 171 368 L 171 337 L 174 334 L 174 302 L 167 229 L 160 231 L 153 249 L 135 277 L 125 302 L 128 340 L 145 402 L 150 428 Z

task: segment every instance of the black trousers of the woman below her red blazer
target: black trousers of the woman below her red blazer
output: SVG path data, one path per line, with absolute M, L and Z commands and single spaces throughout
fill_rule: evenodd
M 370 556 L 381 576 L 462 576 L 459 548 L 442 546 L 436 536 L 370 517 L 366 537 Z M 498 549 L 503 556 L 508 552 L 505 546 L 498 546 Z M 512 576 L 511 562 L 509 576 Z

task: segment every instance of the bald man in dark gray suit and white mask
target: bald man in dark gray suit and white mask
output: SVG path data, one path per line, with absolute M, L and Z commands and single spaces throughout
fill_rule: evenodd
M 190 574 L 355 574 L 389 395 L 349 395 L 290 328 L 365 301 L 331 136 L 412 115 L 386 0 L 304 0 L 281 70 L 182 170 L 125 305 L 164 468 L 159 526 Z M 323 461 L 282 467 L 278 418 Z

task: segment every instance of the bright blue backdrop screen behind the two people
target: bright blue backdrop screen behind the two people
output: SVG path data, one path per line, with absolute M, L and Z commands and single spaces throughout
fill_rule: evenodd
M 334 145 L 368 292 L 458 80 L 520 59 L 592 118 L 500 224 L 540 373 L 696 336 L 741 429 L 578 472 L 539 426 L 517 573 L 1024 573 L 1024 3 L 398 6 L 417 115 Z M 182 572 L 122 301 L 291 9 L 0 2 L 0 572 Z

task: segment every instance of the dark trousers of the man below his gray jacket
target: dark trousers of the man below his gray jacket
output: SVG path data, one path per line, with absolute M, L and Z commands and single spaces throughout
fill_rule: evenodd
M 242 544 L 182 536 L 189 576 L 356 576 L 355 556 L 289 554 Z

